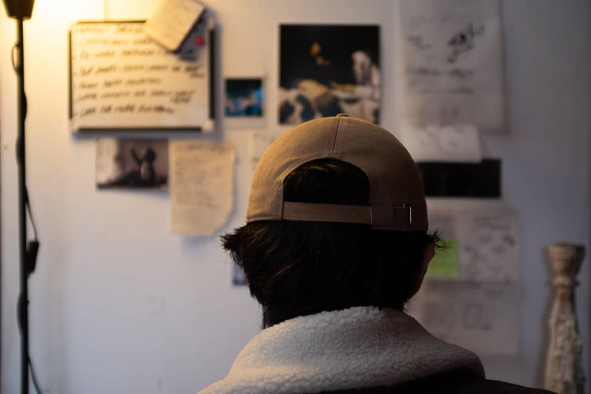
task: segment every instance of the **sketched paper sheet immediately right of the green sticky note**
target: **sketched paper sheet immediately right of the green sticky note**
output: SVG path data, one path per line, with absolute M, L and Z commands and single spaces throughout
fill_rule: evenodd
M 461 211 L 460 273 L 473 281 L 519 279 L 519 223 L 511 210 Z

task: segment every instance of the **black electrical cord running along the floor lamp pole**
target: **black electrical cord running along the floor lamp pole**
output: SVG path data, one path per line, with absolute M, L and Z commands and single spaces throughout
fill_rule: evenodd
M 17 67 L 17 64 L 14 60 L 14 53 L 15 50 L 17 50 L 17 48 L 20 47 L 20 43 L 17 41 L 17 43 L 15 43 L 11 49 L 10 52 L 10 58 L 11 58 L 11 63 L 12 63 L 12 69 L 14 69 L 14 72 L 17 74 L 17 76 L 19 76 L 22 73 L 22 69 L 20 67 Z M 22 92 L 23 96 L 24 96 L 24 108 L 23 108 L 23 118 L 27 118 L 27 95 L 25 94 L 25 92 Z M 24 119 L 23 119 L 24 120 Z M 17 144 L 18 146 L 18 144 Z M 18 158 L 18 164 L 22 165 L 22 160 L 24 159 L 24 157 L 19 158 L 18 152 L 17 152 L 17 158 Z M 27 213 L 28 213 L 28 217 L 29 220 L 31 222 L 31 227 L 33 227 L 33 241 L 29 242 L 28 244 L 28 248 L 26 250 L 25 253 L 25 262 L 27 262 L 27 276 L 31 275 L 31 273 L 34 271 L 35 269 L 35 261 L 37 259 L 37 251 L 39 248 L 39 241 L 37 238 L 37 227 L 35 226 L 35 221 L 33 219 L 33 211 L 31 210 L 31 203 L 29 201 L 29 193 L 27 190 L 27 185 L 25 185 L 24 187 L 24 199 L 25 199 L 25 208 L 27 209 Z M 19 324 L 18 327 L 21 330 L 21 335 L 22 335 L 22 315 L 20 312 L 20 299 L 19 299 L 19 304 L 17 305 L 17 316 L 18 316 L 18 320 L 19 320 Z M 33 362 L 31 362 L 31 357 L 29 356 L 29 354 L 25 354 L 25 357 L 27 357 L 27 364 L 29 366 L 29 369 L 31 371 L 31 380 L 33 380 L 33 386 L 35 388 L 35 392 L 37 392 L 37 394 L 43 394 L 43 391 L 41 390 L 41 386 L 39 385 L 39 382 L 37 380 L 37 374 L 35 373 L 35 369 L 33 368 Z M 28 384 L 28 382 L 27 382 Z

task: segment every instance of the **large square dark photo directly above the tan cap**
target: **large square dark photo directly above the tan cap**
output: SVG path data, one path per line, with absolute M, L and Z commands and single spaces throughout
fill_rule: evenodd
M 279 122 L 346 113 L 379 122 L 378 25 L 281 25 Z

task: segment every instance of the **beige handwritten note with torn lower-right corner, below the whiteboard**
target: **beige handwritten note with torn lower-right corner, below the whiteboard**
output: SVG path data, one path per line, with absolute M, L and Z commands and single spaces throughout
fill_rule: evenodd
M 233 207 L 234 147 L 230 142 L 171 141 L 171 230 L 213 235 Z

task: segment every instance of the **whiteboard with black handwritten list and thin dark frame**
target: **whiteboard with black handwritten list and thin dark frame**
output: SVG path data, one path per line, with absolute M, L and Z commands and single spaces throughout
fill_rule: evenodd
M 192 54 L 184 51 L 181 58 L 142 33 L 143 24 L 73 25 L 69 112 L 74 131 L 213 129 L 213 30 L 207 21 L 197 24 L 187 41 Z

